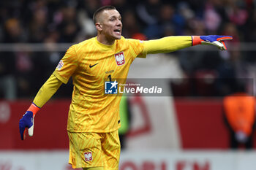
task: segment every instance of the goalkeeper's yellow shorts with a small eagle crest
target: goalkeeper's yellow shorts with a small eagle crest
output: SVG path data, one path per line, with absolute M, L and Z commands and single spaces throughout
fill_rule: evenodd
M 104 167 L 118 170 L 120 141 L 118 131 L 110 133 L 69 132 L 69 163 L 73 169 Z

